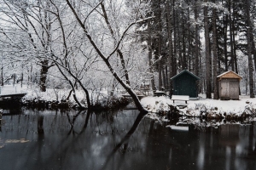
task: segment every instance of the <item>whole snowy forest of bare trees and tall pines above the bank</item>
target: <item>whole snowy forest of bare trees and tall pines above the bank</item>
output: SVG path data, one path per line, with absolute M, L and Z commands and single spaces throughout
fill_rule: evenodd
M 67 88 L 74 99 L 82 90 L 88 107 L 91 94 L 125 89 L 144 111 L 136 90 L 145 84 L 172 95 L 171 78 L 188 70 L 201 78 L 198 93 L 218 99 L 217 76 L 234 71 L 254 98 L 255 3 L 0 0 L 0 82 Z

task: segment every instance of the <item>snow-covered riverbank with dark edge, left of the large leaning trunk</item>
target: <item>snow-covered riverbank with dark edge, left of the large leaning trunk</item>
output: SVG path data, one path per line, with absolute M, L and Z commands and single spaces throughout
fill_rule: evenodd
M 32 108 L 47 108 L 47 109 L 78 109 L 79 105 L 73 99 L 73 94 L 70 94 L 70 89 L 55 89 L 47 88 L 46 92 L 41 92 L 38 88 L 26 88 L 26 86 L 20 87 L 20 84 L 15 86 L 5 85 L 1 87 L 1 94 L 17 94 L 26 93 L 26 95 L 20 100 L 21 105 L 26 105 Z M 94 111 L 102 111 L 108 109 L 114 109 L 124 107 L 128 105 L 130 100 L 123 98 L 121 95 L 109 96 L 108 91 L 102 89 L 101 91 L 90 91 L 90 104 Z M 87 102 L 85 94 L 82 90 L 76 91 L 76 98 L 79 100 L 83 107 L 87 108 Z M 5 100 L 8 102 L 8 100 Z M 11 102 L 10 102 L 11 103 Z M 4 103 L 9 105 L 9 103 Z M 79 108 L 81 109 L 81 108 Z

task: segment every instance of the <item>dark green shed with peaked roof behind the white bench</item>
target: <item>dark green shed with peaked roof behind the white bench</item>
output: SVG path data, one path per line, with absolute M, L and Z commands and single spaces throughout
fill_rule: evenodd
M 189 95 L 190 98 L 198 97 L 196 81 L 200 78 L 193 73 L 184 70 L 172 77 L 171 80 L 173 95 Z

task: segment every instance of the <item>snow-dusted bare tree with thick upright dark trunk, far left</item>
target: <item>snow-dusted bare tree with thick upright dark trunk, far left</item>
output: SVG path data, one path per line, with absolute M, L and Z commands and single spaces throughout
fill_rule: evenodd
M 38 1 L 36 7 L 27 2 L 3 0 L 2 8 L 1 12 L 6 18 L 4 22 L 9 25 L 6 29 L 1 29 L 3 35 L 7 37 L 9 47 L 15 51 L 15 54 L 19 54 L 18 57 L 20 57 L 21 51 L 23 57 L 29 56 L 27 60 L 35 59 L 35 62 L 40 65 L 39 87 L 44 92 L 49 68 L 53 66 L 53 63 L 45 58 L 49 55 L 51 48 L 49 32 L 52 30 L 52 23 L 55 20 L 48 13 L 49 2 Z M 10 37 L 10 35 L 16 36 Z

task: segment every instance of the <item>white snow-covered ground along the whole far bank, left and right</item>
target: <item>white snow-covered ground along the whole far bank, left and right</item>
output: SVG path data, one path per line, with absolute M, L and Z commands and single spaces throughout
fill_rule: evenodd
M 20 84 L 5 85 L 0 88 L 1 94 L 15 94 L 15 93 L 27 93 L 26 99 L 45 99 L 45 100 L 61 100 L 66 99 L 69 94 L 68 89 L 47 89 L 46 92 L 40 92 L 38 88 L 28 89 L 26 86 L 20 87 Z M 91 93 L 90 93 L 91 95 Z M 102 90 L 101 92 L 94 92 L 93 98 L 102 98 L 107 96 L 108 91 Z M 79 100 L 83 100 L 84 93 L 77 93 Z M 91 98 L 92 96 L 90 96 Z M 73 98 L 70 98 L 73 100 Z M 94 99 L 95 100 L 95 99 Z M 153 97 L 148 96 L 141 100 L 143 106 L 150 113 L 158 113 L 160 111 L 169 111 L 169 105 L 186 105 L 184 101 L 175 101 L 173 104 L 172 100 L 165 96 Z M 179 109 L 181 114 L 184 116 L 201 116 L 202 112 L 218 115 L 236 115 L 241 114 L 248 108 L 250 111 L 256 111 L 256 99 L 250 99 L 247 95 L 241 95 L 239 100 L 220 100 L 220 99 L 206 99 L 204 94 L 200 94 L 197 100 L 189 100 L 187 107 Z

